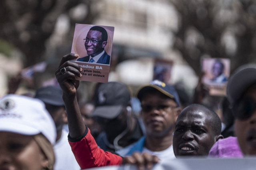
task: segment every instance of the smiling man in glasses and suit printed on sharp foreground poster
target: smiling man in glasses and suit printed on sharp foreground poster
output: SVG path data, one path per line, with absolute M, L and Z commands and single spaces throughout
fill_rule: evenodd
M 77 61 L 109 64 L 110 56 L 104 48 L 107 45 L 108 33 L 106 29 L 100 26 L 91 27 L 84 39 L 84 47 L 87 51 L 86 57 L 79 58 Z

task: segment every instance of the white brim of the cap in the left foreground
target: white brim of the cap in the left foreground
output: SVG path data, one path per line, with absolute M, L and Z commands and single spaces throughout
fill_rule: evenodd
M 37 135 L 40 133 L 38 129 L 31 126 L 8 121 L 0 123 L 0 131 L 18 133 L 21 135 Z

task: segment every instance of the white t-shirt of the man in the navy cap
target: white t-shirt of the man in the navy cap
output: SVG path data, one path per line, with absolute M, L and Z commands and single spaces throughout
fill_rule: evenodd
M 172 145 L 168 147 L 165 150 L 162 151 L 152 151 L 148 150 L 145 147 L 143 147 L 142 153 L 149 153 L 151 155 L 157 156 L 160 160 L 170 160 L 170 159 L 176 159 L 174 152 L 173 152 L 173 147 Z

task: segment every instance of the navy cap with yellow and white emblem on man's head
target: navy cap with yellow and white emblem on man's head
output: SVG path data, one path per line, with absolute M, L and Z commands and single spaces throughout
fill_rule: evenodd
M 150 84 L 140 88 L 140 90 L 138 90 L 138 93 L 137 93 L 137 98 L 141 101 L 145 92 L 148 92 L 153 88 L 156 90 L 159 90 L 166 96 L 170 97 L 176 102 L 178 106 L 180 106 L 180 99 L 175 88 L 173 86 L 165 84 L 164 82 L 161 82 L 160 80 L 153 80 L 152 82 L 150 82 Z

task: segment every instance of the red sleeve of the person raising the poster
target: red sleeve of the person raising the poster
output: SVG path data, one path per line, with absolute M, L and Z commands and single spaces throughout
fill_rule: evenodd
M 70 139 L 68 135 L 68 142 L 81 169 L 122 164 L 121 156 L 104 152 L 98 147 L 88 127 L 78 139 Z

